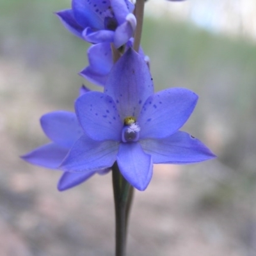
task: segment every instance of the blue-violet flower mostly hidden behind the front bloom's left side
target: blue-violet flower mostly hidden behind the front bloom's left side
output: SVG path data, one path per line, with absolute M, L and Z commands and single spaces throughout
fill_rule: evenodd
M 88 92 L 88 89 L 83 86 L 80 90 L 80 95 L 86 92 Z M 36 148 L 21 156 L 21 158 L 31 164 L 49 169 L 58 169 L 72 145 L 84 133 L 83 129 L 79 125 L 76 114 L 68 111 L 47 113 L 40 118 L 40 124 L 52 142 Z M 73 188 L 92 177 L 95 173 L 104 174 L 109 170 L 109 168 L 106 168 L 83 173 L 65 172 L 58 182 L 58 189 L 63 191 Z

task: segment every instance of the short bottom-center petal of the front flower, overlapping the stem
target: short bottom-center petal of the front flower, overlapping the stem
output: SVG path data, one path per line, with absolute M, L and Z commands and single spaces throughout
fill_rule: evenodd
M 120 172 L 134 188 L 141 191 L 147 188 L 152 178 L 153 164 L 140 143 L 121 143 L 116 161 Z

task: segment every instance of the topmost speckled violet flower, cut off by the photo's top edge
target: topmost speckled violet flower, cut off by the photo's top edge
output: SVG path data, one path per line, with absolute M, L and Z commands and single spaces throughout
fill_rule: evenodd
M 129 0 L 72 0 L 72 9 L 56 14 L 75 35 L 93 44 L 113 42 L 116 48 L 133 35 L 136 18 Z

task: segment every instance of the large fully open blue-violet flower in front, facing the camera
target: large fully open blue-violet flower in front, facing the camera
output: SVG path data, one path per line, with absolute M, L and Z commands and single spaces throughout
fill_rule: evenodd
M 86 173 L 113 166 L 144 190 L 153 163 L 187 164 L 212 159 L 209 148 L 186 132 L 198 97 L 184 88 L 154 94 L 148 67 L 129 49 L 113 66 L 104 93 L 88 92 L 76 100 L 77 118 L 84 134 L 60 168 Z

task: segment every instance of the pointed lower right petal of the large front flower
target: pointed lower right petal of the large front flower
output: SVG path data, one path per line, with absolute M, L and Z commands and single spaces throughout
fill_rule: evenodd
M 154 164 L 197 163 L 216 157 L 200 140 L 181 131 L 162 139 L 140 140 L 140 144 Z

